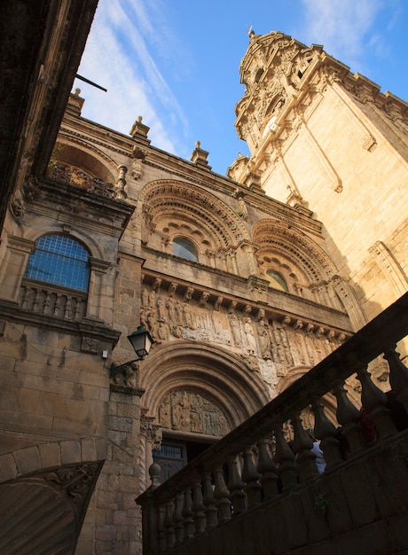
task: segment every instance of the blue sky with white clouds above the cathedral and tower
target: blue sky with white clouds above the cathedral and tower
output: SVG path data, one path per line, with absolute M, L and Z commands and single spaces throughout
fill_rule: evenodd
M 247 145 L 234 128 L 239 63 L 256 35 L 279 30 L 408 100 L 406 0 L 99 0 L 75 80 L 82 116 L 129 133 L 138 115 L 152 145 L 190 159 L 195 141 L 222 175 Z

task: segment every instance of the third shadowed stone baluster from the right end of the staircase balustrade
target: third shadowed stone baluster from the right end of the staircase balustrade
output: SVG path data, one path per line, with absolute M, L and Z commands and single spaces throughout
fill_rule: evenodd
M 349 400 L 343 382 L 339 382 L 333 389 L 337 399 L 337 422 L 341 424 L 341 434 L 349 443 L 351 454 L 359 453 L 365 449 L 363 428 L 360 426 L 360 412 Z

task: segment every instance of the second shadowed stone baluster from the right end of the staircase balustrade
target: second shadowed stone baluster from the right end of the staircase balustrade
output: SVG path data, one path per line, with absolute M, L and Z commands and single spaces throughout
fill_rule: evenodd
M 396 434 L 396 425 L 392 420 L 391 411 L 387 408 L 387 395 L 373 383 L 366 367 L 357 371 L 357 379 L 360 380 L 362 388 L 361 402 L 368 410 L 379 437 Z

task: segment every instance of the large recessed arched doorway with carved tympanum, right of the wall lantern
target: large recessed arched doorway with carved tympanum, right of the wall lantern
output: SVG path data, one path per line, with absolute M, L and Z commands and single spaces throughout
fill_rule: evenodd
M 142 434 L 145 468 L 154 459 L 163 469 L 162 479 L 269 401 L 257 372 L 239 356 L 206 343 L 161 344 L 141 364 L 140 372 L 143 405 L 156 433 L 155 438 Z

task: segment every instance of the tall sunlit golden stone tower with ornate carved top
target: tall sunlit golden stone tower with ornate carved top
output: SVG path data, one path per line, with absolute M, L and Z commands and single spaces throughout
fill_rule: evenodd
M 376 316 L 408 288 L 408 104 L 278 31 L 251 31 L 239 69 L 251 155 L 228 176 L 323 223 L 339 276 Z

